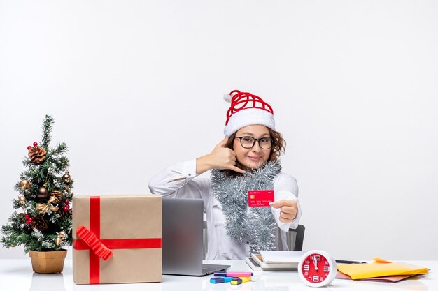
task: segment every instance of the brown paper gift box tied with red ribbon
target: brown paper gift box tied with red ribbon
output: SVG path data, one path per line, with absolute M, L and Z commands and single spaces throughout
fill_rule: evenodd
M 73 197 L 76 284 L 162 281 L 162 197 Z

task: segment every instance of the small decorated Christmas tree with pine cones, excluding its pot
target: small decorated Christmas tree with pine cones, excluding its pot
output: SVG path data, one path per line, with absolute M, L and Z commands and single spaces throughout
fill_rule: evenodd
M 26 170 L 21 173 L 13 199 L 19 209 L 1 227 L 1 242 L 6 248 L 24 245 L 24 252 L 58 251 L 71 245 L 71 198 L 73 180 L 69 174 L 69 159 L 64 157 L 65 142 L 51 149 L 50 133 L 53 119 L 45 116 L 43 140 L 27 147 Z

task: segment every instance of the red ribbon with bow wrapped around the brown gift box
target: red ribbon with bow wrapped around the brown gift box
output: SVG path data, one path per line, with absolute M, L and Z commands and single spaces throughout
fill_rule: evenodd
M 76 250 L 90 250 L 90 284 L 100 283 L 100 258 L 108 260 L 111 249 L 120 248 L 162 248 L 161 238 L 152 239 L 100 239 L 100 197 L 90 196 L 90 230 L 80 225 L 73 239 Z

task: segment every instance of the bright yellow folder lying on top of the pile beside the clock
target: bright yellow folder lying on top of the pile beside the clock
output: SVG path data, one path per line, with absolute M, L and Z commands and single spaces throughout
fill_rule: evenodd
M 420 275 L 428 274 L 428 268 L 418 267 L 414 264 L 403 262 L 383 263 L 376 260 L 372 264 L 338 264 L 338 270 L 350 276 L 353 280 L 363 278 L 376 278 L 395 275 Z

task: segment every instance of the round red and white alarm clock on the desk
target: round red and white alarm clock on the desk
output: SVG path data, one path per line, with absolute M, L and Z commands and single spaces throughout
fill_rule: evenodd
M 336 261 L 326 251 L 308 251 L 298 262 L 298 274 L 311 287 L 329 285 L 337 274 Z

